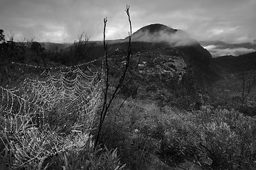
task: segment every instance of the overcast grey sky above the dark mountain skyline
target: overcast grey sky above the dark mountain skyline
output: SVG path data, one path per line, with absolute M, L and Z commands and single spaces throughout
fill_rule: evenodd
M 15 40 L 73 42 L 82 32 L 102 40 L 107 17 L 107 39 L 125 38 L 127 4 L 133 31 L 162 23 L 196 40 L 256 39 L 256 0 L 1 0 L 0 29 Z

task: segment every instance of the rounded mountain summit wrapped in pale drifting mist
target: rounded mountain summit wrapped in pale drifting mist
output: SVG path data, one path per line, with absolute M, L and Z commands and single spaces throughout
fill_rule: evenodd
M 132 34 L 134 42 L 167 42 L 173 47 L 195 45 L 198 42 L 183 30 L 176 30 L 160 23 L 144 26 Z

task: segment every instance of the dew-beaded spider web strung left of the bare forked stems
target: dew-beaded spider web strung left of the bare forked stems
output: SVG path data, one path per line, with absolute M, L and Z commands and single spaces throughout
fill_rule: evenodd
M 12 166 L 21 167 L 76 145 L 65 141 L 92 130 L 104 74 L 87 63 L 16 67 L 39 72 L 26 74 L 14 88 L 0 86 L 0 152 L 10 155 Z

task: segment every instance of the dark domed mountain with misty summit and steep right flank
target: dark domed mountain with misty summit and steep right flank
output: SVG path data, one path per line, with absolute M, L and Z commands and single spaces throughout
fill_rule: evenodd
M 127 39 L 127 38 L 126 38 Z M 209 81 L 216 75 L 210 69 L 211 55 L 198 41 L 190 38 L 188 33 L 156 23 L 140 28 L 132 34 L 132 42 L 143 43 L 149 48 L 145 50 L 161 49 L 160 53 L 176 49 L 176 57 L 186 62 L 196 79 Z M 151 43 L 151 45 L 149 45 Z M 146 48 L 146 47 L 144 47 Z

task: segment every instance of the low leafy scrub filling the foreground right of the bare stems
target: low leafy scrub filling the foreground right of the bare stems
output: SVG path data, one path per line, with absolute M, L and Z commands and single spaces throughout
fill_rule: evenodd
M 144 167 L 150 154 L 169 166 L 188 159 L 210 169 L 256 168 L 255 118 L 211 106 L 187 112 L 150 101 L 120 103 L 107 117 L 102 142 L 118 147 L 130 169 Z

